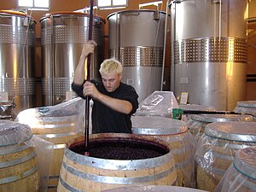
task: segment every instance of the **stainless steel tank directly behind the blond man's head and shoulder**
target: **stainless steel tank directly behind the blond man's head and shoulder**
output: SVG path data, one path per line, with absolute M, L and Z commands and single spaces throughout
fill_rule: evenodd
M 108 15 L 109 55 L 122 63 L 122 81 L 137 90 L 139 102 L 160 90 L 165 20 L 165 12 L 146 9 Z

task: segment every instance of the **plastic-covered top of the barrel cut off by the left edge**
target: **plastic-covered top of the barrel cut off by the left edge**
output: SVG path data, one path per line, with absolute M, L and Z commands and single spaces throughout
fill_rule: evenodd
M 0 147 L 26 142 L 32 137 L 32 131 L 28 125 L 14 121 L 0 121 Z

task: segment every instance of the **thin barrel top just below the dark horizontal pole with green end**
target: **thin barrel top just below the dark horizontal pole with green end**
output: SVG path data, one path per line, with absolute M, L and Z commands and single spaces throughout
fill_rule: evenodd
M 252 121 L 253 117 L 247 114 L 193 114 L 191 119 L 212 123 L 224 121 Z

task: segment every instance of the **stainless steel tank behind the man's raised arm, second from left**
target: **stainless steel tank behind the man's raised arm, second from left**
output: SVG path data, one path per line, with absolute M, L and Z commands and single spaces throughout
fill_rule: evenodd
M 55 12 L 44 15 L 40 23 L 43 104 L 55 105 L 75 96 L 71 84 L 84 42 L 88 40 L 89 15 Z M 92 56 L 91 79 L 100 79 L 98 69 L 104 59 L 104 24 L 105 20 L 101 17 L 94 17 L 92 38 L 97 46 Z

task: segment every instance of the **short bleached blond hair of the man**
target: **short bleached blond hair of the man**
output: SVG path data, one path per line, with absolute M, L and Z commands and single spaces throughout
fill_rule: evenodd
M 99 72 L 101 74 L 102 73 L 109 74 L 109 73 L 113 73 L 113 72 L 115 72 L 117 74 L 122 74 L 123 67 L 119 61 L 117 61 L 114 58 L 111 58 L 111 59 L 104 60 L 102 62 Z

